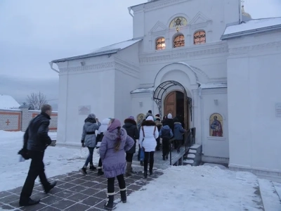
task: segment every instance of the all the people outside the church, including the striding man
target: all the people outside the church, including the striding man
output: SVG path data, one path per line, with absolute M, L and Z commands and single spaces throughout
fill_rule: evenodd
M 40 200 L 32 200 L 32 189 L 34 181 L 39 176 L 41 184 L 46 193 L 55 187 L 56 181 L 48 182 L 44 172 L 44 151 L 51 145 L 48 136 L 48 125 L 51 120 L 52 108 L 49 105 L 41 107 L 41 114 L 30 122 L 25 135 L 22 150 L 19 152 L 22 158 L 31 159 L 30 170 L 20 194 L 20 206 L 34 205 Z M 107 178 L 107 203 L 104 208 L 112 210 L 114 208 L 115 177 L 119 183 L 121 201 L 126 203 L 126 183 L 124 174 L 130 176 L 132 170 L 133 154 L 136 153 L 136 141 L 139 149 L 144 153 L 144 177 L 148 176 L 148 161 L 150 164 L 149 174 L 153 174 L 154 153 L 160 148 L 160 137 L 162 137 L 163 160 L 169 153 L 169 139 L 177 136 L 178 132 L 183 133 L 182 127 L 176 119 L 171 118 L 171 114 L 166 119 L 160 120 L 159 115 L 153 117 L 149 111 L 145 120 L 138 128 L 133 116 L 124 120 L 124 124 L 116 118 L 106 118 L 101 123 L 93 113 L 84 120 L 81 145 L 89 149 L 89 156 L 86 158 L 84 166 L 81 168 L 83 174 L 89 170 L 96 170 L 93 165 L 93 151 L 98 148 L 100 159 L 98 162 L 98 175 L 105 175 Z M 178 128 L 178 129 L 177 129 Z M 181 135 L 182 136 L 182 135 Z M 178 140 L 181 140 L 178 137 Z M 168 143 L 168 144 L 167 144 Z M 103 169 L 103 170 L 102 170 Z

